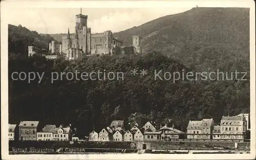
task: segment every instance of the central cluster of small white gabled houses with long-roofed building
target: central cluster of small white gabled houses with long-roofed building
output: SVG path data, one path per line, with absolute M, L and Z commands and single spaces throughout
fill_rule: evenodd
M 111 125 L 102 128 L 99 132 L 93 130 L 89 134 L 89 141 L 159 141 L 167 139 L 179 139 L 184 134 L 181 130 L 167 125 L 156 129 L 151 122 L 146 122 L 142 128 L 138 125 L 130 130 L 124 130 L 123 121 L 112 121 Z

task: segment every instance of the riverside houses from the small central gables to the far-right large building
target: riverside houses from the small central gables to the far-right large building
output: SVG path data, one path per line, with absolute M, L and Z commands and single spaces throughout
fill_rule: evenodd
M 189 121 L 187 132 L 183 132 L 167 125 L 157 130 L 147 122 L 142 128 L 138 125 L 130 130 L 124 130 L 123 121 L 113 121 L 112 124 L 99 132 L 93 130 L 89 134 L 89 141 L 169 141 L 172 139 L 221 139 L 244 140 L 249 130 L 249 114 L 237 116 L 223 116 L 220 125 L 214 125 L 214 120 L 202 119 Z M 115 125 L 118 125 L 115 126 Z

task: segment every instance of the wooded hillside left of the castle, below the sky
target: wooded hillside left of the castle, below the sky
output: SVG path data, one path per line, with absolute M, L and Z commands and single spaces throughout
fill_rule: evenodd
M 49 43 L 53 40 L 50 35 L 40 35 L 22 25 L 8 25 L 8 51 L 12 54 L 28 55 L 28 46 L 36 47 L 40 53 L 48 52 Z

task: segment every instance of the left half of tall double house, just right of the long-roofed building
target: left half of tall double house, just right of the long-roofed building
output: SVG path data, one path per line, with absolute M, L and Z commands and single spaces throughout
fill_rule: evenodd
M 189 121 L 187 125 L 187 139 L 200 139 L 202 121 Z

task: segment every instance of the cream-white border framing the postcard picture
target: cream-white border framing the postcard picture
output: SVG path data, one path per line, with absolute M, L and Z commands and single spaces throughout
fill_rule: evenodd
M 2 159 L 255 159 L 255 2 L 254 1 L 1 1 L 1 136 Z M 12 8 L 250 8 L 250 154 L 26 154 L 8 150 L 8 13 Z M 18 16 L 18 15 L 17 15 Z M 21 17 L 22 18 L 22 17 Z

